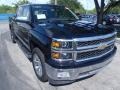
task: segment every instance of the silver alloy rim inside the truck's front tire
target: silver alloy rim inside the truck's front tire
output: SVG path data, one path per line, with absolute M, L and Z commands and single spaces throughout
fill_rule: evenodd
M 37 54 L 33 55 L 33 65 L 34 65 L 34 69 L 35 69 L 37 75 L 42 77 L 42 74 L 43 74 L 42 73 L 42 64 L 41 64 L 41 60 Z

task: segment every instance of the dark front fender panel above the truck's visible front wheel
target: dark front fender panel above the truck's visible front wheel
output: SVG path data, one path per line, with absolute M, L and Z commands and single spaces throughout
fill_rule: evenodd
M 40 32 L 32 30 L 30 33 L 30 43 L 30 45 L 34 44 L 34 48 L 38 47 L 46 56 L 46 58 L 50 57 L 51 38 L 47 37 L 46 35 L 43 35 Z M 31 46 L 31 50 L 32 48 L 33 47 Z

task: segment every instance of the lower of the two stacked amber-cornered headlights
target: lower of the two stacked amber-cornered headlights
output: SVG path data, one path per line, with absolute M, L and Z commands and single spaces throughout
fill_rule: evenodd
M 66 52 L 52 52 L 51 57 L 54 60 L 72 60 L 72 53 Z

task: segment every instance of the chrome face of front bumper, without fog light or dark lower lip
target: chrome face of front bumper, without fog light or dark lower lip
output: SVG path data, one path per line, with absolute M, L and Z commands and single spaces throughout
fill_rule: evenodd
M 83 77 L 97 73 L 107 64 L 109 64 L 111 61 L 112 61 L 112 58 L 110 58 L 109 60 L 103 63 L 99 63 L 99 64 L 87 66 L 87 67 L 73 68 L 73 69 L 56 69 L 46 64 L 47 75 L 49 78 L 54 80 L 75 80 L 75 79 L 83 78 Z M 57 74 L 59 72 L 68 72 L 70 74 L 70 77 L 57 77 Z

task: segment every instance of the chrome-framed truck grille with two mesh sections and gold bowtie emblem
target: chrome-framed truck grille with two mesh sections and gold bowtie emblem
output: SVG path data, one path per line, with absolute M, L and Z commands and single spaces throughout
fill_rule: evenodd
M 110 53 L 114 48 L 115 37 L 116 33 L 111 33 L 103 36 L 76 39 L 78 52 L 75 54 L 75 60 L 86 61 Z M 106 46 L 104 47 L 104 45 Z

